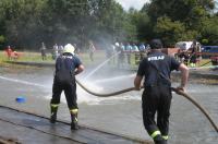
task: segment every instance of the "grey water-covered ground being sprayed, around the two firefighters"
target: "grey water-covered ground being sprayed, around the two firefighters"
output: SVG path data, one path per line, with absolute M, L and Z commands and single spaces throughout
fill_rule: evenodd
M 0 105 L 49 117 L 52 73 L 52 68 L 0 68 Z M 102 76 L 102 74 L 106 75 Z M 98 71 L 88 80 L 83 80 L 84 75 L 78 76 L 77 80 L 93 91 L 106 93 L 132 87 L 135 73 L 132 71 L 116 72 L 105 69 L 105 72 Z M 173 83 L 173 85 L 175 86 L 177 83 Z M 92 96 L 80 87 L 77 92 L 80 124 L 150 140 L 144 130 L 142 121 L 142 92 L 131 92 L 109 98 Z M 199 101 L 210 113 L 215 122 L 218 123 L 217 84 L 189 84 L 187 93 Z M 17 96 L 25 97 L 26 101 L 23 104 L 16 103 L 15 98 Z M 62 96 L 58 119 L 70 121 L 64 96 Z M 197 108 L 185 98 L 173 94 L 169 143 L 217 144 L 218 135 Z

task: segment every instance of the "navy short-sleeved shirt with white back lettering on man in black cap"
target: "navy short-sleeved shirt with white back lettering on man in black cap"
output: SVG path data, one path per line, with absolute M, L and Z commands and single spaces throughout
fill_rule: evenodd
M 170 73 L 179 69 L 180 63 L 162 52 L 152 52 L 141 61 L 137 75 L 145 76 L 144 86 L 171 86 Z

